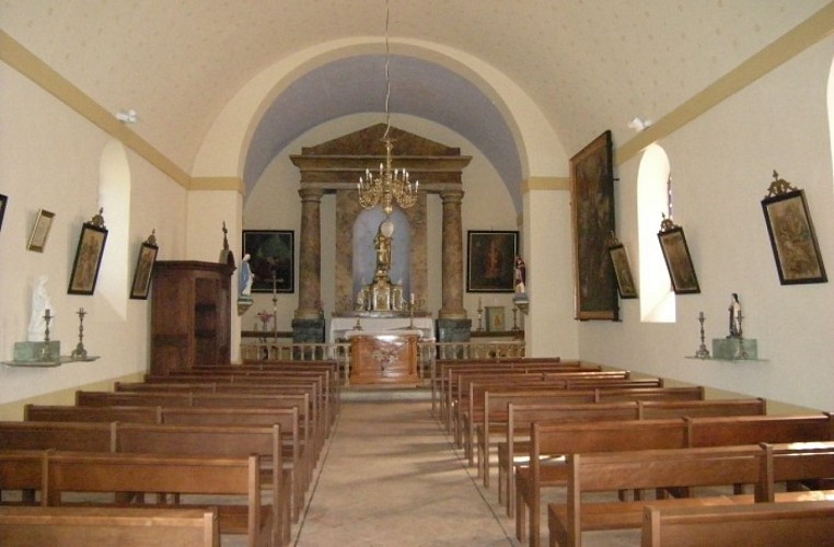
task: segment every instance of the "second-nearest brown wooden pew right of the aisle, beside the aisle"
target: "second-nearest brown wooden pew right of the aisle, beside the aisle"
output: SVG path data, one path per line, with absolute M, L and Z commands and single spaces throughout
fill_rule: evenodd
M 733 504 L 731 497 L 720 493 L 629 502 L 590 502 L 582 499 L 584 493 L 744 482 L 755 485 L 756 502 L 768 502 L 773 490 L 767 467 L 767 449 L 755 445 L 568 454 L 567 501 L 547 508 L 549 545 L 578 547 L 583 531 L 639 528 L 647 505 Z

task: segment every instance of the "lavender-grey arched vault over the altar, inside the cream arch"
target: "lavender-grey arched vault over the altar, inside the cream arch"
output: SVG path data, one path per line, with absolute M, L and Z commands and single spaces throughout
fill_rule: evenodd
M 391 56 L 389 73 L 392 125 L 397 113 L 443 125 L 475 144 L 505 182 L 521 181 L 510 129 L 472 82 L 414 57 Z M 251 188 L 273 158 L 308 129 L 349 114 L 379 112 L 385 104 L 384 74 L 384 56 L 363 55 L 329 62 L 296 80 L 258 123 L 243 171 L 246 186 Z M 378 121 L 383 123 L 384 116 Z M 520 202 L 516 206 L 521 210 Z

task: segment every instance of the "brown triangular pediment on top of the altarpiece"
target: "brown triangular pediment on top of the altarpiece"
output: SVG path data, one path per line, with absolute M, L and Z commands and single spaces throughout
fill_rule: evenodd
M 385 124 L 377 124 L 352 133 L 343 135 L 327 142 L 304 147 L 301 155 L 315 156 L 374 156 L 385 155 L 382 137 Z M 394 156 L 455 156 L 461 155 L 461 149 L 448 147 L 440 142 L 414 135 L 396 127 L 391 127 L 389 136 L 394 141 Z

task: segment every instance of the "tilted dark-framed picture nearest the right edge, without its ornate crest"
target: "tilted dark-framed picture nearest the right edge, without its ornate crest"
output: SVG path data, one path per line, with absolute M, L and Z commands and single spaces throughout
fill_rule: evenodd
M 781 284 L 827 282 L 804 190 L 768 196 L 762 208 Z

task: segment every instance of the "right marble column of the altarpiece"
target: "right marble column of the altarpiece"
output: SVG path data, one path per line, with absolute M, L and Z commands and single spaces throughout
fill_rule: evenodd
M 443 201 L 443 293 L 441 319 L 465 319 L 463 309 L 463 223 L 462 190 L 440 193 Z

